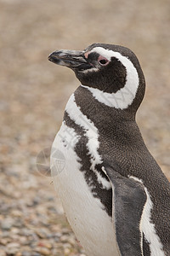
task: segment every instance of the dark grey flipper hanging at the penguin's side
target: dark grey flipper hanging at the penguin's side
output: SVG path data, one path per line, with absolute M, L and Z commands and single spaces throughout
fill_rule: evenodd
M 122 256 L 143 254 L 143 234 L 140 223 L 146 194 L 141 183 L 123 177 L 110 166 L 103 167 L 113 189 L 112 218 L 116 229 L 116 241 Z

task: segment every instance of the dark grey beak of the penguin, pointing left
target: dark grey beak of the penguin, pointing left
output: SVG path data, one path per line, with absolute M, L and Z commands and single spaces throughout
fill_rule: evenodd
M 51 53 L 48 60 L 71 69 L 84 70 L 91 67 L 81 50 L 60 49 Z

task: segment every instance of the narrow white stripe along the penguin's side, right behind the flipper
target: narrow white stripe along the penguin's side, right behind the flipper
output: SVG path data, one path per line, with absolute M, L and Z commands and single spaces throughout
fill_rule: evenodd
M 133 178 L 139 183 L 142 183 L 144 186 L 144 183 L 138 177 L 129 177 Z M 151 201 L 150 193 L 146 187 L 144 187 L 144 191 L 147 195 L 147 200 L 145 202 L 142 218 L 140 221 L 140 229 L 141 232 L 144 233 L 144 237 L 146 238 L 146 240 L 149 242 L 150 256 L 165 256 L 165 253 L 163 253 L 163 247 L 160 238 L 156 234 L 155 224 L 153 224 L 153 221 L 151 220 L 151 210 L 153 208 L 153 202 Z

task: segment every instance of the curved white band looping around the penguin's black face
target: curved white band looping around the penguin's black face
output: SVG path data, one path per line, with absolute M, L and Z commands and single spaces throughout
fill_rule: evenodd
M 104 49 L 102 47 L 95 47 L 90 53 L 96 52 L 99 55 L 104 56 L 106 59 L 111 61 L 111 57 L 115 57 L 118 61 L 122 62 L 122 65 L 126 68 L 127 71 L 127 81 L 123 88 L 117 90 L 116 93 L 107 93 L 97 88 L 88 87 L 82 85 L 83 87 L 88 88 L 96 100 L 104 103 L 105 105 L 113 108 L 127 108 L 132 104 L 133 99 L 136 96 L 136 92 L 139 87 L 139 74 L 136 68 L 133 66 L 132 61 L 127 57 L 121 55 L 119 52 L 115 52 L 110 49 Z M 87 72 L 97 72 L 99 71 L 96 68 L 88 69 Z

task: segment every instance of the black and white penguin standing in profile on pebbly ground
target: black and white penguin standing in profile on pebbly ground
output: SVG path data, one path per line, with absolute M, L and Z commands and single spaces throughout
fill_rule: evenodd
M 81 82 L 51 154 L 54 186 L 77 239 L 88 256 L 169 256 L 170 186 L 135 122 L 145 88 L 136 55 L 92 44 L 48 59 Z

